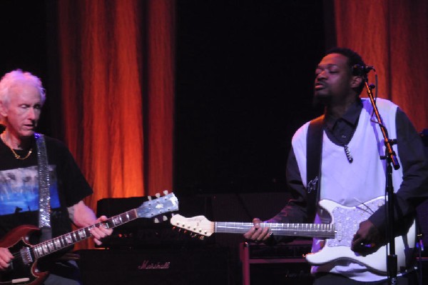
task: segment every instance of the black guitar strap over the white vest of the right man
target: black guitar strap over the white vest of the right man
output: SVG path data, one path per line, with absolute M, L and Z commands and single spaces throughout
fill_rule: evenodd
M 315 219 L 320 200 L 322 124 L 324 115 L 310 121 L 306 137 L 307 218 Z

